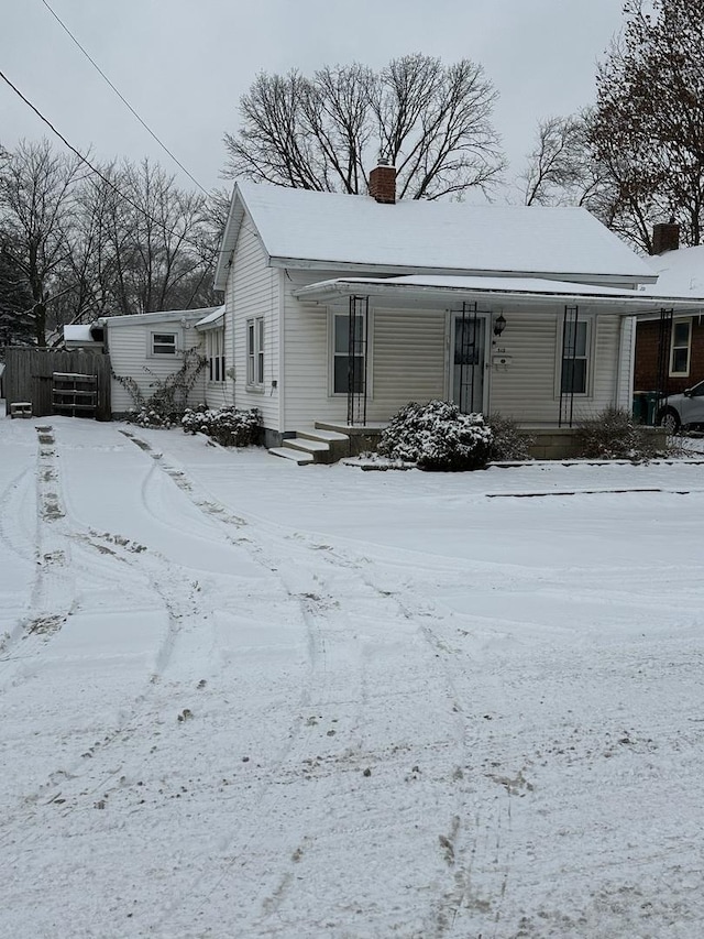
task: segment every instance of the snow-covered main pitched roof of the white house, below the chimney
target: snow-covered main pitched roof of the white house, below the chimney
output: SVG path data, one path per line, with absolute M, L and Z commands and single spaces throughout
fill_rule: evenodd
M 469 205 L 318 193 L 240 182 L 216 286 L 249 215 L 271 263 L 386 273 L 547 274 L 648 283 L 650 266 L 581 208 Z

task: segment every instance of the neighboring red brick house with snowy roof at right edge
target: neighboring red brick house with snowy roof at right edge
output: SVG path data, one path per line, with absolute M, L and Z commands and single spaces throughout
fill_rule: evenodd
M 653 230 L 651 264 L 662 294 L 704 296 L 704 245 L 679 248 L 674 223 Z M 660 403 L 704 380 L 704 308 L 685 313 L 663 309 L 642 316 L 636 329 L 634 394 L 648 394 Z M 650 416 L 653 416 L 652 407 Z

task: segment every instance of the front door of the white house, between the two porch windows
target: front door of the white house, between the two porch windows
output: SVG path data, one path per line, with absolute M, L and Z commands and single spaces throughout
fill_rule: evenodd
M 485 381 L 488 314 L 452 316 L 450 370 L 452 401 L 465 414 L 486 413 Z

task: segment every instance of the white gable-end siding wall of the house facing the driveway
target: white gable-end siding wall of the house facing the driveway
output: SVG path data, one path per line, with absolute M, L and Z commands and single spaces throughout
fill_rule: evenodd
M 258 236 L 245 218 L 226 292 L 224 341 L 230 374 L 223 394 L 239 408 L 258 408 L 264 426 L 272 430 L 280 429 L 278 279 L 279 272 L 267 266 Z M 246 321 L 260 316 L 264 317 L 264 384 L 254 390 L 246 384 Z

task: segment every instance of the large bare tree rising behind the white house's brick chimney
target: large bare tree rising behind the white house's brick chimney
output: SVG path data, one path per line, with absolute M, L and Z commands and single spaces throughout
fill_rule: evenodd
M 366 192 L 380 155 L 400 198 L 486 190 L 505 166 L 492 125 L 496 92 L 480 65 L 408 55 L 378 73 L 353 64 L 306 78 L 260 74 L 224 135 L 227 176 L 295 188 Z

